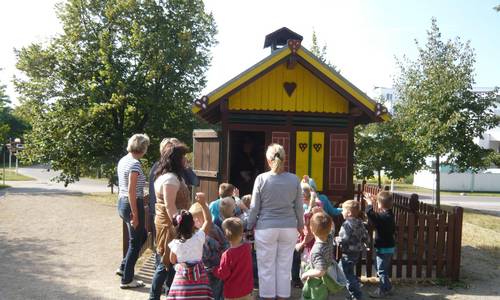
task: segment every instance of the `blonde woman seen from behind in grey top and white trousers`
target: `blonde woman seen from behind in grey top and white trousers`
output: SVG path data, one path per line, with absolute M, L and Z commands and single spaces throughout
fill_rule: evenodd
M 266 152 L 271 171 L 255 179 L 248 229 L 255 226 L 261 298 L 289 298 L 290 272 L 297 230 L 304 227 L 302 190 L 294 174 L 283 171 L 285 150 L 271 144 Z

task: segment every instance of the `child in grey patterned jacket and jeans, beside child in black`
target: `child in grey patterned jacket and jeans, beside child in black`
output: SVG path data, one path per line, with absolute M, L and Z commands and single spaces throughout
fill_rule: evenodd
M 342 215 L 344 223 L 339 231 L 337 242 L 342 247 L 342 258 L 340 264 L 347 279 L 347 299 L 361 299 L 362 293 L 358 277 L 354 274 L 354 266 L 358 263 L 361 253 L 366 249 L 368 243 L 368 232 L 365 225 L 359 219 L 359 202 L 354 200 L 345 201 L 342 204 Z

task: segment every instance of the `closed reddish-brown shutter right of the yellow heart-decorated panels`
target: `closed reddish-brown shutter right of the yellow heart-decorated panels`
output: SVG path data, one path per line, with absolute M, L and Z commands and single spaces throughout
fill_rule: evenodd
M 348 135 L 330 134 L 329 187 L 330 190 L 347 190 Z

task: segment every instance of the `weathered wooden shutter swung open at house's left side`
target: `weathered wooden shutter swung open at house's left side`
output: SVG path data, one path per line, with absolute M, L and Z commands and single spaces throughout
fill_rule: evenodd
M 193 131 L 193 170 L 200 179 L 197 192 L 207 195 L 207 201 L 219 197 L 220 141 L 216 131 Z

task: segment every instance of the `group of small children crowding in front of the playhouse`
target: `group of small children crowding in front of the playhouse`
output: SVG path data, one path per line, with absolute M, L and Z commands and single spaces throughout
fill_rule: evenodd
M 299 234 L 292 280 L 302 287 L 304 299 L 328 299 L 346 286 L 346 299 L 362 299 L 354 267 L 362 257 L 369 236 L 365 215 L 358 201 L 342 204 L 344 223 L 339 234 L 314 189 L 303 184 L 307 203 L 304 208 L 305 225 Z M 257 276 L 255 250 L 251 246 L 251 232 L 246 231 L 246 213 L 251 195 L 238 197 L 238 190 L 228 183 L 219 187 L 220 198 L 207 205 L 205 195 L 197 193 L 196 203 L 189 211 L 180 211 L 173 224 L 176 239 L 170 244 L 170 260 L 176 263 L 176 275 L 167 299 L 251 299 L 254 275 Z M 307 197 L 308 196 L 308 197 Z M 389 280 L 391 257 L 394 253 L 395 222 L 392 213 L 392 195 L 377 195 L 379 210 L 373 209 L 370 195 L 366 216 L 375 228 L 376 267 L 379 288 L 370 297 L 381 298 L 392 293 Z M 335 245 L 340 246 L 342 257 L 334 259 Z M 300 283 L 298 282 L 300 280 Z

